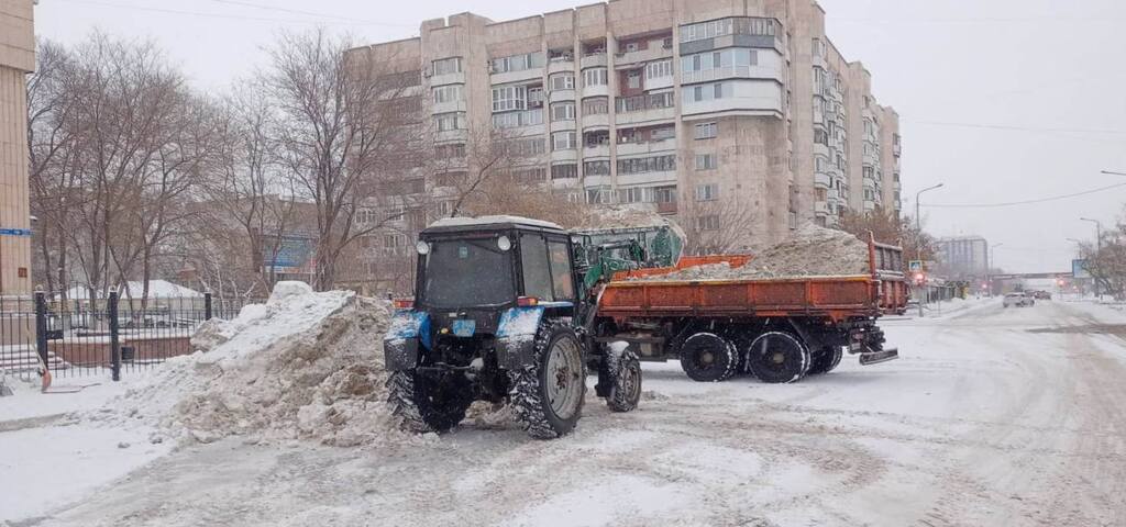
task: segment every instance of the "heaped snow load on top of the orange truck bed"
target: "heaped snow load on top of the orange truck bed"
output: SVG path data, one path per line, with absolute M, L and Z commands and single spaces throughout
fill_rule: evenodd
M 843 230 L 806 225 L 741 267 L 726 263 L 688 267 L 640 280 L 741 280 L 872 273 L 868 244 Z

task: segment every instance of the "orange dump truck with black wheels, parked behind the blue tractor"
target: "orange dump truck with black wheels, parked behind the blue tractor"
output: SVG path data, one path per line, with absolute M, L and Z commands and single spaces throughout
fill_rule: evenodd
M 683 257 L 674 267 L 619 273 L 599 300 L 596 335 L 626 342 L 642 361 L 679 358 L 691 379 L 723 381 L 750 373 L 796 382 L 828 373 L 844 351 L 860 364 L 899 357 L 884 348 L 876 320 L 906 309 L 903 249 L 868 243 L 870 273 L 736 280 L 685 280 L 677 271 L 705 264 L 739 267 L 750 255 Z

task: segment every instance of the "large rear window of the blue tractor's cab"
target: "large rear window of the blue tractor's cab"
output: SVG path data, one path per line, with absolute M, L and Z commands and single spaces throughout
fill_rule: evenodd
M 426 256 L 421 300 L 436 308 L 498 306 L 516 298 L 512 252 L 495 238 L 436 239 Z

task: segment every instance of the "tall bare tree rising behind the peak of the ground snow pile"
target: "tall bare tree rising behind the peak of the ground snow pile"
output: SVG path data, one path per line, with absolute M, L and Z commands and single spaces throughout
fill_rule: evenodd
M 421 108 L 418 96 L 404 97 L 420 84 L 420 73 L 396 74 L 382 61 L 346 54 L 350 47 L 324 30 L 283 35 L 261 79 L 277 111 L 274 130 L 286 175 L 316 210 L 313 285 L 321 290 L 333 287 L 347 247 L 382 227 L 375 221 L 357 228 L 357 215 L 376 196 L 387 166 L 418 155 L 402 127 Z

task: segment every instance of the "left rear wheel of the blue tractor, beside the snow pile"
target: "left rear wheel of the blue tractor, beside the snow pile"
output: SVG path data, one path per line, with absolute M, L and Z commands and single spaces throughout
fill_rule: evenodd
M 404 430 L 417 434 L 449 431 L 465 419 L 473 403 L 473 385 L 465 375 L 394 372 L 387 378 L 387 400 Z

